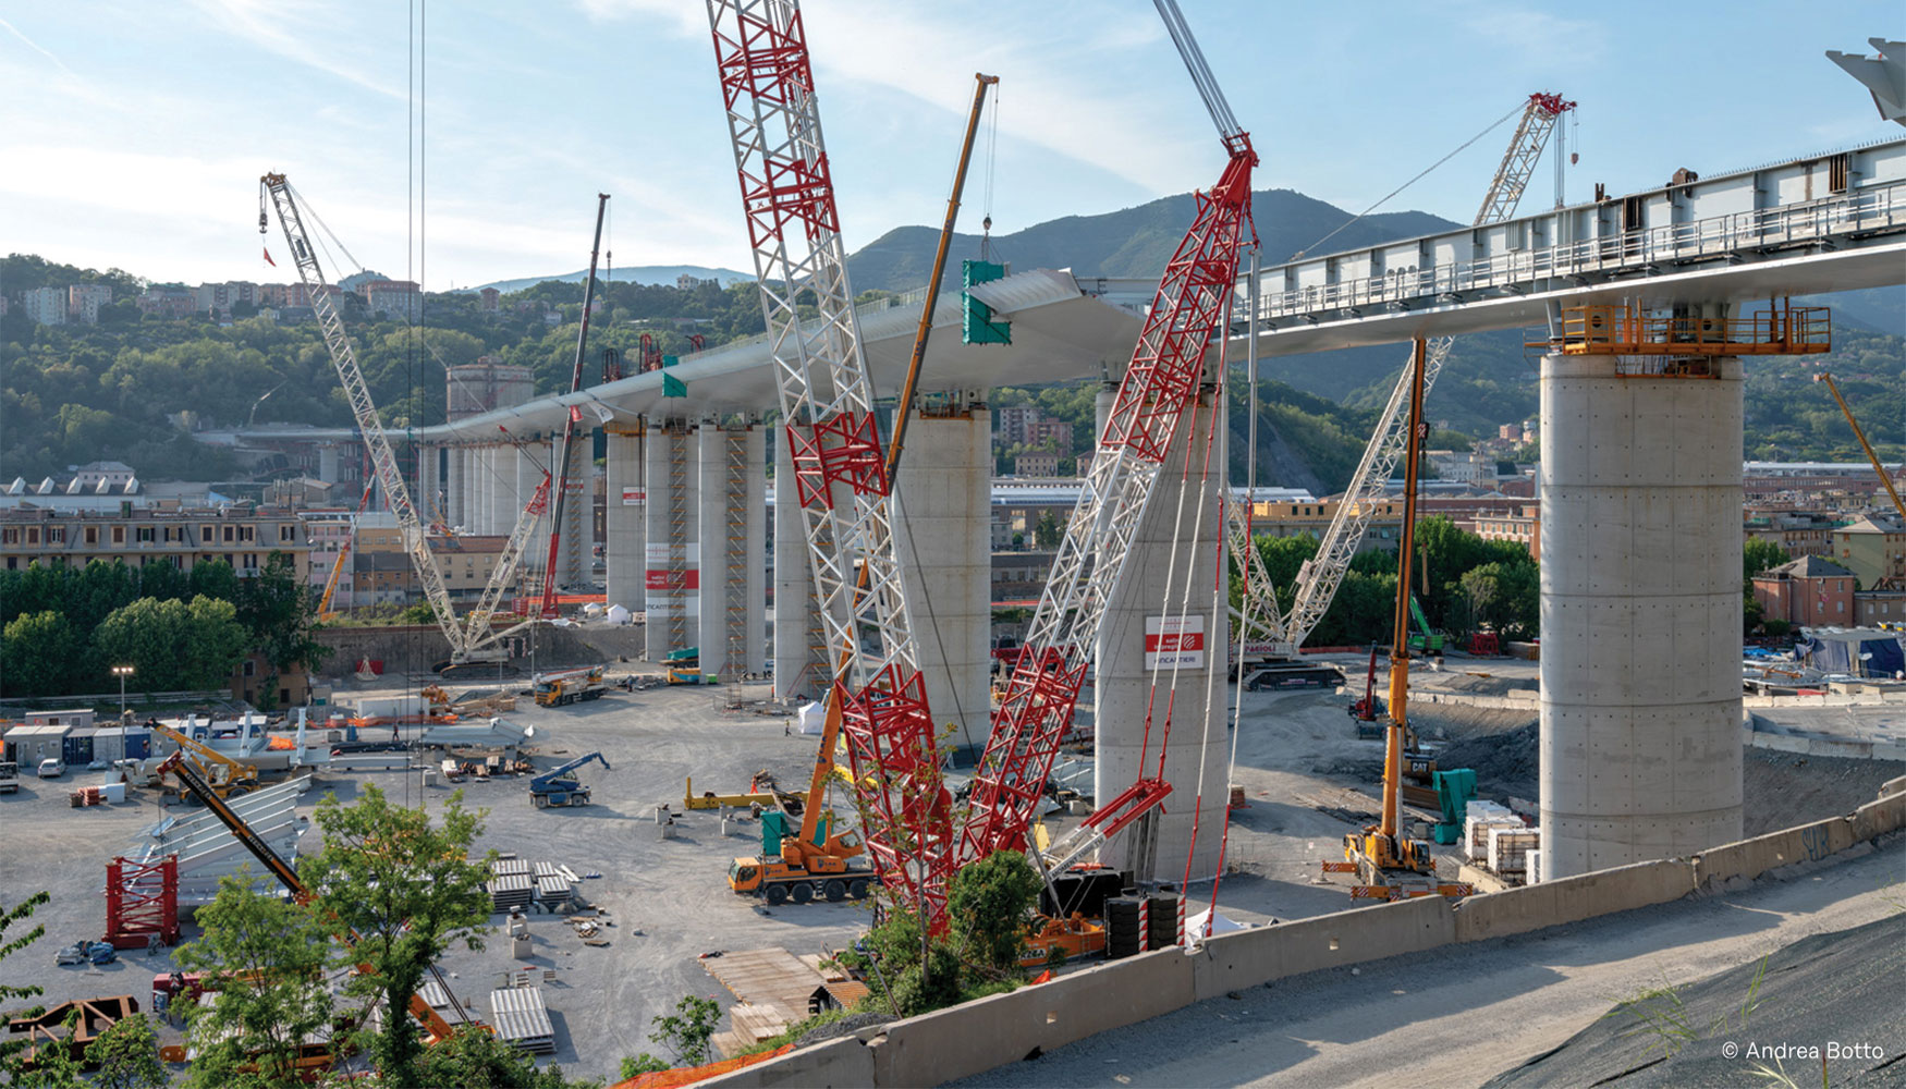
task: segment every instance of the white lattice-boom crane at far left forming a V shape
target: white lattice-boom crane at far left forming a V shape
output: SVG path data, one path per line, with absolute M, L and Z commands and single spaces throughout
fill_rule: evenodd
M 282 174 L 267 174 L 259 179 L 259 235 L 267 233 L 271 225 L 271 217 L 265 214 L 267 198 L 278 212 L 278 225 L 284 229 L 286 246 L 290 246 L 292 257 L 297 263 L 297 275 L 305 284 L 305 294 L 311 296 L 311 309 L 318 318 L 318 330 L 324 334 L 324 347 L 332 353 L 332 364 L 337 368 L 337 380 L 345 387 L 345 399 L 351 402 L 351 414 L 356 418 L 358 433 L 364 435 L 364 448 L 370 452 L 377 486 L 383 488 L 385 502 L 391 503 L 391 511 L 396 515 L 398 532 L 404 540 L 404 551 L 410 553 L 412 566 L 417 570 L 417 582 L 423 584 L 423 595 L 431 603 L 431 612 L 436 614 L 436 624 L 442 627 L 444 639 L 450 641 L 448 666 L 456 668 L 484 662 L 505 662 L 509 652 L 497 641 L 528 627 L 534 622 L 522 622 L 503 631 L 496 631 L 492 629 L 490 620 L 496 616 L 496 610 L 503 601 L 503 591 L 517 578 L 517 566 L 522 563 L 522 553 L 530 544 L 536 521 L 549 505 L 549 473 L 543 473 L 543 481 L 536 486 L 530 502 L 524 503 L 522 513 L 517 517 L 517 526 L 509 534 L 503 551 L 497 555 L 496 568 L 490 572 L 490 582 L 484 586 L 482 597 L 476 601 L 476 608 L 471 610 L 467 622 L 459 624 L 456 606 L 450 603 L 450 589 L 444 586 L 444 576 L 436 568 L 436 557 L 431 555 L 429 534 L 417 515 L 416 503 L 410 498 L 410 486 L 404 483 L 404 473 L 398 467 L 396 454 L 391 448 L 391 437 L 385 433 L 383 421 L 377 418 L 377 406 L 372 402 L 370 385 L 364 381 L 362 368 L 358 368 L 356 351 L 351 347 L 351 338 L 345 336 L 343 320 L 337 317 L 337 307 L 332 303 L 332 290 L 324 280 L 324 269 L 318 265 L 316 248 L 305 233 L 305 221 L 297 208 L 297 198 L 292 193 L 292 183 Z

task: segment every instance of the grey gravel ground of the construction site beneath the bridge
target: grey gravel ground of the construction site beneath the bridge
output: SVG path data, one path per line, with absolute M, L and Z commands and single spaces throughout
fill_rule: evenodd
M 1346 658 L 1344 666 L 1359 679 L 1355 688 L 1361 694 L 1361 662 Z M 1534 664 L 1510 668 L 1523 669 L 1527 685 L 1534 683 Z M 423 683 L 419 677 L 347 683 L 339 685 L 337 696 L 406 694 Z M 496 679 L 454 685 L 465 687 L 494 688 Z M 722 837 L 715 812 L 682 812 L 684 780 L 694 776 L 698 793 L 743 791 L 753 772 L 766 769 L 783 788 L 804 790 L 816 738 L 783 734 L 780 715 L 719 711 L 724 690 L 768 694 L 766 687 L 675 687 L 633 694 L 612 690 L 598 702 L 570 708 L 518 702 L 518 711 L 509 717 L 536 727 L 534 759 L 539 769 L 589 751 L 602 751 L 614 765 L 614 771 L 591 765 L 579 772 L 593 790 L 595 803 L 589 807 L 534 809 L 526 776 L 461 786 L 467 803 L 490 811 L 478 849 L 600 873 L 581 881 L 581 894 L 608 912 L 612 925 L 600 933 L 608 946 L 587 946 L 560 917 L 532 914 L 532 957 L 517 961 L 501 933 L 503 917 L 496 915 L 497 933 L 486 950 L 457 950 L 444 961 L 452 990 L 478 1017 L 488 1015 L 490 990 L 505 980 L 505 973 L 528 971 L 543 986 L 555 1026 L 557 1053 L 551 1060 L 564 1070 L 608 1078 L 618 1072 L 621 1057 L 656 1051 L 648 1039 L 650 1018 L 667 1013 L 682 996 L 713 996 L 726 1009 L 734 997 L 703 971 L 701 954 L 776 946 L 797 955 L 820 954 L 848 944 L 867 925 L 865 908 L 852 902 L 766 908 L 728 893 L 728 862 L 759 849 L 759 830 L 743 826 L 740 833 Z M 1241 923 L 1264 923 L 1348 908 L 1348 875 L 1332 875 L 1332 883 L 1325 883 L 1319 862 L 1342 858 L 1344 833 L 1374 820 L 1380 742 L 1357 740 L 1355 723 L 1346 713 L 1348 698 L 1340 694 L 1233 688 L 1233 698 L 1245 702 L 1233 780 L 1245 788 L 1248 807 L 1231 814 L 1227 873 L 1218 891 L 1222 912 Z M 1489 757 L 1490 738 L 1513 744 L 1513 734 L 1531 719 L 1529 711 L 1422 706 L 1414 721 L 1430 738 L 1470 742 L 1479 746 L 1477 755 Z M 1498 755 L 1510 765 L 1527 763 L 1532 776 L 1532 753 Z M 1778 774 L 1755 772 L 1759 765 L 1750 755 L 1750 832 L 1845 812 L 1872 797 L 1866 786 L 1872 776 L 1900 774 L 1895 765 L 1839 769 L 1841 761 L 1759 755 Z M 132 801 L 124 805 L 71 809 L 67 793 L 93 778 L 95 772 L 69 772 L 48 782 L 25 778 L 19 793 L 0 795 L 0 824 L 8 832 L 8 847 L 0 853 L 0 889 L 6 896 L 0 898 L 15 900 L 34 889 L 53 894 L 36 914 L 36 921 L 48 927 L 46 938 L 8 957 L 6 973 L 10 982 L 44 986 L 46 1001 L 133 994 L 145 1005 L 151 975 L 170 969 L 164 955 L 149 959 L 143 950 L 132 950 L 105 969 L 53 965 L 59 946 L 99 936 L 107 860 L 128 851 L 139 830 L 160 816 L 151 791 L 130 791 Z M 1534 799 L 1532 778 L 1496 778 L 1527 790 L 1517 797 Z M 324 791 L 351 799 L 368 782 L 398 801 L 429 807 L 440 807 L 456 790 L 442 782 L 425 786 L 416 772 L 324 772 L 305 801 L 314 807 Z M 1485 797 L 1506 799 L 1490 791 Z M 658 835 L 654 809 L 661 803 L 675 811 L 673 839 Z M 1416 812 L 1410 820 L 1426 816 Z M 1075 820 L 1050 818 L 1050 828 L 1060 833 Z M 314 845 L 316 835 L 309 833 L 305 851 Z M 1443 866 L 1454 875 L 1454 847 L 1441 851 Z M 1193 887 L 1191 896 L 1191 910 L 1203 910 L 1210 885 Z M 193 927 L 185 931 L 187 938 L 194 933 Z M 541 982 L 545 969 L 555 969 L 551 982 Z M 728 1018 L 720 1028 L 730 1028 Z M 1471 1079 L 1487 1078 L 1511 1060 L 1479 1068 Z M 1100 1066 L 1098 1078 L 1079 1083 L 1109 1081 L 1109 1066 Z M 1208 1078 L 1184 1083 L 1203 1081 Z

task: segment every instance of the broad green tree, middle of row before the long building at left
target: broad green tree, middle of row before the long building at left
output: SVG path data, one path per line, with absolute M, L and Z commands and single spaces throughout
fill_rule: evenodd
M 250 637 L 231 601 L 141 597 L 93 631 L 103 660 L 132 666 L 152 687 L 223 688 Z M 168 685 L 170 681 L 170 685 Z

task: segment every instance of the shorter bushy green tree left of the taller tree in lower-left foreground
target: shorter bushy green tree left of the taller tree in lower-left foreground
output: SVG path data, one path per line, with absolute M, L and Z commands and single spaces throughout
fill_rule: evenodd
M 332 925 L 313 908 L 238 877 L 219 881 L 198 923 L 204 935 L 173 954 L 179 965 L 204 973 L 213 992 L 212 1005 L 183 1007 L 194 1051 L 185 1083 L 295 1085 L 305 1038 L 332 1020 L 332 997 L 320 984 L 339 963 Z

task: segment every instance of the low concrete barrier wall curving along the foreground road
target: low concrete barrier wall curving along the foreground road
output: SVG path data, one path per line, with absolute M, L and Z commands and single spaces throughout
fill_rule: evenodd
M 1847 816 L 1727 843 L 1694 858 L 1635 862 L 1470 896 L 1454 906 L 1441 896 L 1424 896 L 1222 935 L 1193 954 L 1163 950 L 1096 965 L 1039 986 L 867 1028 L 856 1038 L 818 1043 L 703 1085 L 938 1085 L 1018 1062 L 1033 1049 L 1052 1051 L 1231 990 L 1666 904 L 1729 881 L 1748 883 L 1782 866 L 1824 860 L 1900 828 L 1906 828 L 1906 776 L 1889 782 L 1877 801 Z

